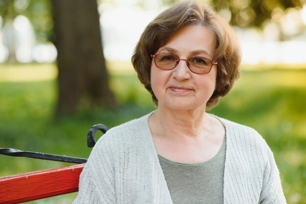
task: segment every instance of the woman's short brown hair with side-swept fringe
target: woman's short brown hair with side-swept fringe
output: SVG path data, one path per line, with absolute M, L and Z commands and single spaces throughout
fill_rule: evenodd
M 166 9 L 145 28 L 131 61 L 140 82 L 151 93 L 153 102 L 157 105 L 158 100 L 151 87 L 151 54 L 155 54 L 186 25 L 203 26 L 216 37 L 216 50 L 212 59 L 218 61 L 216 89 L 206 104 L 206 109 L 212 109 L 239 78 L 241 61 L 240 46 L 234 30 L 212 9 L 194 1 L 182 2 Z

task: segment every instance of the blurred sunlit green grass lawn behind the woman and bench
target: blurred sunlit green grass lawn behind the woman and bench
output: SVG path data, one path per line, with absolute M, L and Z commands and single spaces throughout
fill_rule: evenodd
M 5 69 L 0 67 L 0 75 Z M 119 107 L 86 107 L 56 119 L 54 79 L 0 78 L 0 147 L 86 158 L 91 150 L 86 144 L 87 131 L 93 124 L 112 127 L 154 109 L 150 95 L 137 77 L 131 72 L 121 73 L 113 72 L 110 81 Z M 305 79 L 306 70 L 300 68 L 244 70 L 230 94 L 210 111 L 262 134 L 274 152 L 289 204 L 306 203 Z M 68 165 L 2 155 L 0 161 L 0 176 Z M 31 203 L 71 203 L 75 196 L 74 193 Z

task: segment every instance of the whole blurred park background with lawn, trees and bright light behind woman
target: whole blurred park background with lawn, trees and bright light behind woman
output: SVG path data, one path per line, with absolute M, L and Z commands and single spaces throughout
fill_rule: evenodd
M 148 22 L 178 0 L 84 2 L 0 0 L 0 147 L 87 158 L 91 150 L 87 131 L 93 124 L 113 127 L 155 109 L 130 58 Z M 209 112 L 258 130 L 274 152 L 288 204 L 305 204 L 306 1 L 201 2 L 213 5 L 234 26 L 243 53 L 240 79 Z M 95 13 L 89 4 L 97 13 L 96 20 L 87 19 L 89 13 Z M 84 13 L 87 9 L 89 13 Z M 58 26 L 67 19 L 76 22 L 70 21 L 70 27 L 69 23 Z M 84 41 L 94 38 L 79 24 L 98 26 L 103 52 L 101 39 L 97 43 L 101 47 L 95 50 L 82 48 Z M 69 34 L 66 40 L 71 41 L 68 55 L 58 41 L 63 33 Z M 98 53 L 96 59 L 105 64 L 91 63 L 95 55 L 87 52 Z M 59 58 L 64 55 L 72 65 L 63 65 Z M 108 74 L 94 72 L 92 67 L 106 69 Z M 61 72 L 65 69 L 66 74 Z M 93 78 L 92 84 L 109 88 L 92 91 L 93 95 L 103 93 L 96 98 L 90 88 L 71 80 L 80 75 L 88 78 L 91 69 L 103 75 Z M 82 94 L 70 96 L 70 92 Z M 0 163 L 0 176 L 69 165 L 3 155 Z M 66 204 L 75 196 L 30 203 Z

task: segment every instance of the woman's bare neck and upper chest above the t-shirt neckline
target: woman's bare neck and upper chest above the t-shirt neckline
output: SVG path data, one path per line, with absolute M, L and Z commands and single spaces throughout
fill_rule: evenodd
M 149 118 L 157 154 L 179 163 L 199 163 L 214 157 L 225 129 L 205 110 L 169 110 L 158 107 Z

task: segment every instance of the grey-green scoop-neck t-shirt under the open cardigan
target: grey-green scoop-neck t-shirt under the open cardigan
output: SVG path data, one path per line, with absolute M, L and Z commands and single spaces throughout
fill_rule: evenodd
M 203 163 L 176 163 L 158 155 L 174 204 L 222 204 L 226 140 Z

